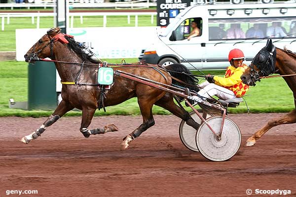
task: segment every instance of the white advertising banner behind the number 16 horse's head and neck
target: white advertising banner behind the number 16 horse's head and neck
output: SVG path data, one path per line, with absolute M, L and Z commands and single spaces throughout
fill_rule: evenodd
M 25 61 L 24 55 L 47 31 L 17 29 L 16 60 Z M 138 58 L 143 48 L 158 39 L 156 27 L 69 28 L 67 33 L 100 59 Z

